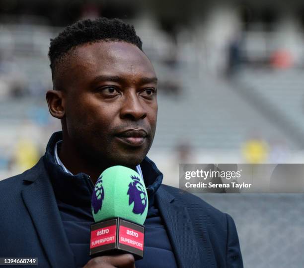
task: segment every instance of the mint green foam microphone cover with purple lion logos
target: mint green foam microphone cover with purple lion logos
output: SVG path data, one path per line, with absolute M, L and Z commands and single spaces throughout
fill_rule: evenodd
M 146 186 L 136 171 L 114 166 L 99 176 L 92 194 L 92 215 L 95 222 L 121 217 L 144 224 L 147 213 Z

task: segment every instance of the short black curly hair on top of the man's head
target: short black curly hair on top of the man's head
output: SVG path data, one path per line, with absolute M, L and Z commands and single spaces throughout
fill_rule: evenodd
M 85 43 L 98 41 L 124 41 L 142 49 L 142 40 L 137 36 L 134 26 L 120 19 L 83 19 L 67 26 L 57 37 L 51 39 L 49 57 L 52 75 L 56 64 L 72 48 Z

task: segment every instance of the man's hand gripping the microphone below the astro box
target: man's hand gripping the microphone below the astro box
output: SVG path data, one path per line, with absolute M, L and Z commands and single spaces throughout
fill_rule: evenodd
M 83 268 L 135 268 L 132 254 L 102 256 L 89 260 Z

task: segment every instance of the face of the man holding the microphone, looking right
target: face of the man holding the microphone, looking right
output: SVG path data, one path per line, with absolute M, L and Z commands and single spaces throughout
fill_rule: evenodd
M 63 77 L 66 127 L 93 163 L 135 167 L 154 138 L 157 80 L 147 56 L 126 42 L 76 48 Z

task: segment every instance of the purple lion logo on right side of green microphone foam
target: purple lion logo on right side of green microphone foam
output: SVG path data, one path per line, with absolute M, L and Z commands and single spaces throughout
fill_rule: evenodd
M 131 176 L 132 182 L 129 184 L 129 205 L 134 202 L 133 213 L 143 214 L 147 206 L 147 196 L 145 188 L 139 178 Z

